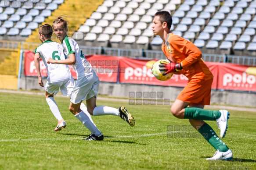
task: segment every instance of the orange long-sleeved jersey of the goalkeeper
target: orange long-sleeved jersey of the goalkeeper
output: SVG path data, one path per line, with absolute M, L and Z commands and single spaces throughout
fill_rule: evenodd
M 199 78 L 209 80 L 213 78 L 212 72 L 201 59 L 202 53 L 190 41 L 169 33 L 167 41 L 162 43 L 162 51 L 166 57 L 174 63 L 182 63 L 183 69 L 179 71 L 189 80 Z

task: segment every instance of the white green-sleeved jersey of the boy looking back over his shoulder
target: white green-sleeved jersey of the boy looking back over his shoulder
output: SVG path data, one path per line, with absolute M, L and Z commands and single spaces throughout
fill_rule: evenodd
M 72 66 L 76 71 L 77 78 L 95 73 L 94 69 L 92 68 L 90 63 L 86 60 L 82 50 L 79 48 L 78 44 L 74 39 L 66 35 L 64 40 L 61 42 L 61 44 L 63 46 L 64 53 L 66 56 L 69 56 L 69 54 L 71 53 L 75 54 L 76 64 Z

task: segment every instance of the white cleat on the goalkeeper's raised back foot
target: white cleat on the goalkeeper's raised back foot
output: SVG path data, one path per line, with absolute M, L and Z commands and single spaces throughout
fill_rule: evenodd
M 230 113 L 227 110 L 220 110 L 220 118 L 216 120 L 218 128 L 220 129 L 220 138 L 224 138 L 227 131 L 227 120 Z

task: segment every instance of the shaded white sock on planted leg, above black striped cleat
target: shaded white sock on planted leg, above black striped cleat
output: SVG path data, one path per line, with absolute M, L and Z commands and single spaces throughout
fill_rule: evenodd
M 81 111 L 76 114 L 75 117 L 82 122 L 82 124 L 89 129 L 94 135 L 101 135 L 101 131 L 96 127 L 96 125 L 90 121 L 89 117 Z

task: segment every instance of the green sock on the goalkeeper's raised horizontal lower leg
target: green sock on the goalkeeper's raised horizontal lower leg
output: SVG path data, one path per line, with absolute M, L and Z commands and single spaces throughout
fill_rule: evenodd
M 184 119 L 216 120 L 221 113 L 217 110 L 204 110 L 196 107 L 185 108 Z

